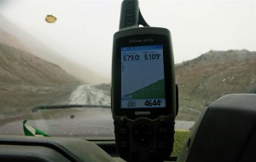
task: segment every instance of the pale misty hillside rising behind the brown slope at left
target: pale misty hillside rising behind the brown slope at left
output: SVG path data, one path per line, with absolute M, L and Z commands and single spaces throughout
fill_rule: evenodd
M 70 59 L 61 55 L 60 52 L 57 52 L 56 49 L 49 47 L 49 42 L 39 41 L 37 38 L 32 37 L 29 32 L 25 32 L 19 26 L 16 26 L 13 22 L 1 15 L 0 22 L 0 43 L 2 42 L 16 49 L 25 50 L 44 61 L 58 65 L 65 72 L 79 78 L 84 83 L 104 83 L 104 80 L 106 80 L 106 78 L 103 78 L 98 72 L 95 72 L 95 69 L 90 69 L 90 67 L 86 67 L 86 65 L 84 65 L 85 67 L 80 66 L 70 61 Z M 73 51 L 69 52 L 75 56 Z

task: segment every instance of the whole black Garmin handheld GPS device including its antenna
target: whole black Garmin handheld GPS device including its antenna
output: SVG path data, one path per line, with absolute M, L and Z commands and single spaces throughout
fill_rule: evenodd
M 149 27 L 137 1 L 125 0 L 119 32 L 113 35 L 111 94 L 115 142 L 122 159 L 170 157 L 176 93 L 170 32 Z

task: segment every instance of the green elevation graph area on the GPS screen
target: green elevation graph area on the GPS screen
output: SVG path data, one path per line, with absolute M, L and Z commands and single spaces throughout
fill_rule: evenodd
M 160 99 L 165 98 L 165 80 L 161 79 L 154 84 L 149 84 L 140 90 L 125 95 L 131 99 Z

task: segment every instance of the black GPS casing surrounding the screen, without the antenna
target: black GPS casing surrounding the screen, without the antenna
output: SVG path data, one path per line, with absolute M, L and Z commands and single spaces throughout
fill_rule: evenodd
M 171 40 L 167 29 L 157 27 L 127 29 L 113 36 L 111 101 L 115 141 L 120 157 L 127 161 L 162 161 L 172 153 L 177 103 Z M 144 45 L 163 45 L 166 107 L 122 109 L 121 47 Z

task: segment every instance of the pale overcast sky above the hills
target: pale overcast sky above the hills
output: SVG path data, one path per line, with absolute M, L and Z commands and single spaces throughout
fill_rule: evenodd
M 110 81 L 121 0 L 0 0 L 0 14 Z M 150 26 L 172 32 L 175 62 L 214 50 L 256 50 L 256 1 L 140 0 Z M 47 14 L 57 18 L 49 24 Z M 0 22 L 1 26 L 1 22 Z

